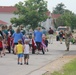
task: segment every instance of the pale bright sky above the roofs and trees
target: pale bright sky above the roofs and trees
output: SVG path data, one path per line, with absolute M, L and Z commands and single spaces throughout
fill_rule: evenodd
M 19 1 L 24 0 L 0 0 L 0 6 L 14 6 Z M 46 0 L 48 2 L 48 9 L 52 12 L 53 8 L 56 7 L 57 4 L 63 3 L 66 6 L 66 9 L 71 10 L 76 14 L 76 0 Z

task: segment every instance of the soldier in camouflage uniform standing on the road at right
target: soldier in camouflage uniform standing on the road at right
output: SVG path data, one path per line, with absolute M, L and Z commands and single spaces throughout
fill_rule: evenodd
M 66 51 L 69 51 L 70 39 L 71 39 L 71 31 L 69 31 L 69 28 L 67 27 L 67 30 L 65 31 L 65 44 L 67 47 Z

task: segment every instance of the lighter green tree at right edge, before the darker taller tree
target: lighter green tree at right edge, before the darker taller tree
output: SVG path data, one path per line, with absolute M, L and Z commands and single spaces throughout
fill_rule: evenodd
M 71 11 L 65 11 L 57 20 L 56 26 L 70 26 L 72 29 L 76 28 L 76 14 Z

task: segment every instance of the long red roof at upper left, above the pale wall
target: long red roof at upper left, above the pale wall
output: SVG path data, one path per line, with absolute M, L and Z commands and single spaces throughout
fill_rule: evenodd
M 1 13 L 13 13 L 14 11 L 16 11 L 17 8 L 14 6 L 0 6 L 0 12 Z

